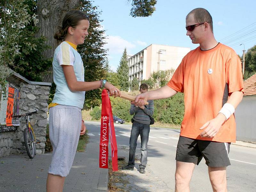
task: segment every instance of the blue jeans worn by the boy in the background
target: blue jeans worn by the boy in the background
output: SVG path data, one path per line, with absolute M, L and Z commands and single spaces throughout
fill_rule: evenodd
M 141 140 L 140 167 L 146 167 L 146 164 L 148 162 L 148 151 L 147 150 L 148 150 L 149 131 L 150 131 L 150 127 L 148 124 L 141 124 L 141 123 L 137 123 L 137 122 L 134 122 L 132 124 L 128 165 L 134 167 L 137 140 L 140 135 L 140 140 Z

